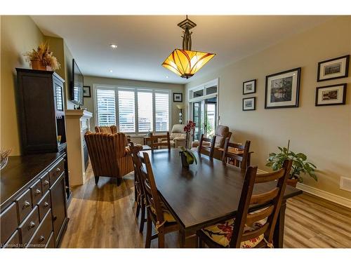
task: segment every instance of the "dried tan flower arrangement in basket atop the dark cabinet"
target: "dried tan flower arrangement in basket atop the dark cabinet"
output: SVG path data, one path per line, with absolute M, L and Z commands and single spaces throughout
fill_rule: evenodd
M 32 69 L 53 71 L 60 69 L 60 63 L 49 50 L 47 42 L 41 43 L 37 50 L 32 49 L 32 51 L 28 51 L 24 55 L 27 57 L 26 61 L 29 62 L 29 66 Z

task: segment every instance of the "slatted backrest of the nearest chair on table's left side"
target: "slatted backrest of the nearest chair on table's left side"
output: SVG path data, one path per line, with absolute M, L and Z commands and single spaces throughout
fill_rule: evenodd
M 159 200 L 156 182 L 154 181 L 154 173 L 152 172 L 149 155 L 146 152 L 143 152 L 143 156 L 141 156 L 139 152 L 137 156 L 140 180 L 143 184 L 143 191 L 145 194 L 147 207 L 154 209 L 157 217 L 157 222 L 161 224 L 164 222 L 164 213 L 161 208 L 161 202 Z

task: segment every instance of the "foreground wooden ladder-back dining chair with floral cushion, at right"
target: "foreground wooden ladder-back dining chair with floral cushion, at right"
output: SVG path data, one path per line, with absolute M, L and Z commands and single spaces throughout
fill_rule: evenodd
M 280 170 L 257 174 L 257 167 L 246 170 L 237 217 L 197 231 L 200 248 L 273 248 L 274 227 L 291 170 L 291 160 Z M 274 182 L 270 191 L 253 194 L 255 184 Z M 252 208 L 255 205 L 257 208 Z

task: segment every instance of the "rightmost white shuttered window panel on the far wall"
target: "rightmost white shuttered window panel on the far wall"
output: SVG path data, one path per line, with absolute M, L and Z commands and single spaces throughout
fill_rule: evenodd
M 166 93 L 155 93 L 154 103 L 156 131 L 168 130 L 169 95 Z

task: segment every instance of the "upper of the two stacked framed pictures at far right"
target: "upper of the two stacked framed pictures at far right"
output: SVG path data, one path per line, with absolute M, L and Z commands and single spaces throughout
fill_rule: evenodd
M 318 62 L 317 81 L 346 78 L 349 74 L 350 55 Z

